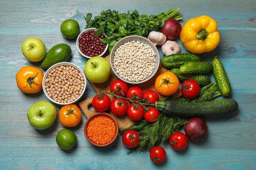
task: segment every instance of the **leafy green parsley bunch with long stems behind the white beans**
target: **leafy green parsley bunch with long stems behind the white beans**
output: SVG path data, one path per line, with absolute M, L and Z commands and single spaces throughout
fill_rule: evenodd
M 139 15 L 137 10 L 127 13 L 119 13 L 116 10 L 103 10 L 100 16 L 95 16 L 88 13 L 85 17 L 87 25 L 85 29 L 95 27 L 96 37 L 105 33 L 106 38 L 102 42 L 108 43 L 108 52 L 111 52 L 113 46 L 117 41 L 129 35 L 140 35 L 142 37 L 148 36 L 150 31 L 158 31 L 163 26 L 165 20 L 175 18 L 182 20 L 179 14 L 180 8 L 173 10 L 169 9 L 167 12 L 161 12 L 156 15 Z

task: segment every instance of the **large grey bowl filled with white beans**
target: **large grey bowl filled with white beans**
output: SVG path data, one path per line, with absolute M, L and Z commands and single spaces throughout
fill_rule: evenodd
M 114 74 L 130 84 L 150 80 L 160 67 L 158 48 L 138 35 L 119 40 L 110 53 L 110 65 Z

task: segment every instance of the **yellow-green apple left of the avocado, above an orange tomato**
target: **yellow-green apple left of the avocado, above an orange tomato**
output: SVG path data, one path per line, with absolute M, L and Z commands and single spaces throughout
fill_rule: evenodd
M 32 62 L 41 61 L 46 54 L 45 44 L 41 39 L 29 37 L 22 43 L 22 54 Z

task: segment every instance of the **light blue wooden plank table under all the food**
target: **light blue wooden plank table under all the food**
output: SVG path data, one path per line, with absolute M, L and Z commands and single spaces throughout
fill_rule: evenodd
M 44 93 L 27 95 L 16 86 L 16 72 L 30 63 L 22 55 L 24 39 L 35 36 L 47 50 L 58 43 L 72 47 L 70 62 L 83 69 L 87 59 L 79 55 L 75 41 L 60 33 L 62 21 L 73 18 L 85 27 L 84 16 L 102 10 L 119 12 L 137 9 L 140 14 L 166 12 L 181 7 L 184 21 L 209 15 L 219 24 L 221 44 L 218 56 L 223 61 L 232 85 L 232 98 L 239 113 L 232 118 L 208 121 L 209 137 L 203 144 L 189 143 L 184 152 L 175 152 L 166 144 L 167 161 L 155 165 L 149 153 L 129 151 L 117 138 L 116 145 L 95 148 L 83 135 L 83 115 L 74 130 L 77 147 L 64 152 L 56 142 L 56 133 L 64 127 L 56 123 L 47 131 L 36 131 L 26 117 L 28 108 Z M 181 44 L 180 41 L 178 41 Z M 181 44 L 182 52 L 186 52 Z M 206 58 L 207 59 L 207 58 Z M 209 58 L 211 59 L 211 58 Z M 0 1 L 0 169 L 256 169 L 256 1 Z M 95 95 L 91 84 L 83 99 Z M 60 107 L 56 106 L 57 109 Z

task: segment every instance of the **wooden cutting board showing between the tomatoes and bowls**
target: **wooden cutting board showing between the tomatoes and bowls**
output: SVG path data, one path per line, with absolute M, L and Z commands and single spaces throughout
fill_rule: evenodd
M 109 61 L 110 56 L 107 56 L 106 59 L 108 59 L 108 61 Z M 164 73 L 165 71 L 167 71 L 167 69 L 165 67 L 160 66 L 156 75 L 154 75 L 147 82 L 144 82 L 142 84 L 136 84 L 136 85 L 128 84 L 128 86 L 129 87 L 139 86 L 140 88 L 142 88 L 142 90 L 144 92 L 146 90 L 154 90 L 154 83 L 155 83 L 156 77 L 158 75 L 160 75 L 161 73 Z M 99 93 L 100 91 L 110 91 L 109 90 L 110 83 L 117 79 L 118 79 L 117 76 L 113 73 L 113 71 L 111 71 L 110 78 L 108 78 L 108 80 L 106 82 L 101 83 L 101 84 L 97 84 L 97 83 L 93 83 L 93 82 L 90 82 L 90 83 L 93 86 L 95 92 Z M 179 95 L 179 93 L 180 93 L 180 91 L 177 93 L 177 95 Z M 110 99 L 114 98 L 112 95 L 108 95 L 108 96 L 110 97 Z M 92 114 L 96 113 L 96 110 L 93 109 L 92 104 L 91 104 L 93 97 L 90 97 L 89 99 L 86 99 L 79 103 L 79 107 L 81 107 L 81 109 L 83 110 L 83 113 L 85 114 L 85 116 L 87 118 L 89 118 L 89 116 L 91 116 Z M 162 98 L 163 98 L 163 96 L 160 95 L 160 99 L 162 99 Z M 112 114 L 112 113 L 110 112 L 110 114 Z M 114 116 L 114 118 L 116 118 L 119 128 L 121 128 L 121 127 L 127 128 L 127 127 L 131 127 L 131 126 L 133 126 L 133 124 L 135 124 L 135 122 L 130 120 L 126 114 L 123 116 L 116 116 L 116 115 L 112 114 L 112 116 Z

